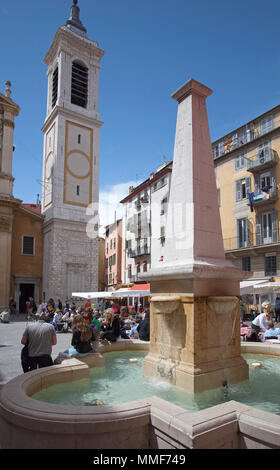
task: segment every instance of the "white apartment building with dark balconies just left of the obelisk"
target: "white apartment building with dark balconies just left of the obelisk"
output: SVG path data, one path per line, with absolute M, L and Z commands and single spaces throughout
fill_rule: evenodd
M 163 256 L 172 162 L 163 163 L 137 187 L 130 187 L 123 204 L 122 280 L 139 281 L 152 256 Z

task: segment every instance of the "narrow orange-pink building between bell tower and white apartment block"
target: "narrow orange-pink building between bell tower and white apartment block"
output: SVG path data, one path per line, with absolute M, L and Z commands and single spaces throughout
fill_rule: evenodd
M 122 284 L 122 220 L 106 226 L 105 231 L 105 289 L 116 290 Z M 104 290 L 104 289 L 103 289 Z

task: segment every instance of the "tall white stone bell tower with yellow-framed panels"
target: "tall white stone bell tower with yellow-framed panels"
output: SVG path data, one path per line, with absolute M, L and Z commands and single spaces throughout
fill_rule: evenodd
M 104 51 L 87 37 L 77 0 L 58 28 L 47 64 L 47 113 L 43 125 L 45 299 L 98 288 L 100 61 Z

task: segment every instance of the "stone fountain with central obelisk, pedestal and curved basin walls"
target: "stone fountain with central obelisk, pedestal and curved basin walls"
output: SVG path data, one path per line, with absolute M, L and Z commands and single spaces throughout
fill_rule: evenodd
M 165 254 L 147 274 L 150 345 L 120 340 L 102 345 L 98 354 L 11 380 L 0 395 L 2 448 L 280 448 L 280 417 L 235 401 L 192 413 L 157 396 L 114 405 L 101 405 L 97 397 L 87 406 L 32 398 L 54 384 L 88 380 L 90 367 L 103 367 L 106 352 L 129 350 L 133 359 L 135 351 L 146 350 L 145 376 L 194 397 L 218 388 L 225 398 L 232 384 L 248 380 L 241 352 L 280 356 L 277 345 L 240 345 L 239 282 L 250 273 L 224 255 L 206 111 L 210 94 L 193 79 L 173 94 L 179 105 Z

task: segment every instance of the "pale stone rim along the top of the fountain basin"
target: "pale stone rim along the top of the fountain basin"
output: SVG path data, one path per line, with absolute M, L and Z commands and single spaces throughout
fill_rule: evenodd
M 125 346 L 125 340 L 123 340 L 122 346 Z M 120 346 L 120 342 L 118 346 Z M 131 340 L 129 341 L 130 346 L 136 345 L 134 350 L 147 350 L 149 348 L 148 342 L 139 342 L 139 340 Z M 139 344 L 141 343 L 141 344 Z M 140 347 L 139 347 L 140 345 Z M 113 346 L 113 347 L 112 347 Z M 111 346 L 102 346 L 100 348 L 102 353 L 113 352 L 113 351 L 125 351 L 128 350 L 125 347 L 118 347 L 114 349 L 114 345 Z M 133 350 L 133 348 L 129 348 L 129 350 Z M 279 356 L 280 357 L 280 347 L 273 344 L 261 344 L 261 343 L 241 343 L 241 352 L 242 353 L 256 353 L 256 354 L 264 354 L 268 356 Z M 25 416 L 26 418 L 29 417 L 30 419 L 38 419 L 41 418 L 43 421 L 50 421 L 53 419 L 55 415 L 57 424 L 68 422 L 69 420 L 73 422 L 73 420 L 80 424 L 87 423 L 89 420 L 94 419 L 94 422 L 99 421 L 108 421 L 109 415 L 114 416 L 114 419 L 121 420 L 127 415 L 134 414 L 134 417 L 140 416 L 143 413 L 145 414 L 147 410 L 150 408 L 153 399 L 157 399 L 158 397 L 147 397 L 146 399 L 139 399 L 134 400 L 126 403 L 116 404 L 116 405 L 98 405 L 98 406 L 73 406 L 73 405 L 56 405 L 47 402 L 40 402 L 32 398 L 32 396 L 28 396 L 26 390 L 28 387 L 38 381 L 38 378 L 42 379 L 47 375 L 54 375 L 59 372 L 63 372 L 65 369 L 69 369 L 72 367 L 76 371 L 81 369 L 89 369 L 82 360 L 78 359 L 71 359 L 67 361 L 67 365 L 57 365 L 51 367 L 45 367 L 43 369 L 38 369 L 36 371 L 29 372 L 28 374 L 21 374 L 14 379 L 10 380 L 0 391 L 0 409 L 4 410 L 4 413 L 11 412 L 18 413 L 22 418 Z M 74 371 L 75 373 L 75 371 Z M 78 377 L 79 380 L 81 377 Z M 204 410 L 200 410 L 197 412 L 189 412 L 177 405 L 173 405 L 172 403 L 166 402 L 168 407 L 175 407 L 175 409 L 180 410 L 181 413 L 189 414 L 189 415 L 196 415 L 199 413 L 200 415 L 204 412 L 207 414 L 207 410 L 210 410 L 213 407 L 206 408 Z M 236 402 L 238 403 L 238 402 Z M 238 403 L 241 407 L 252 408 L 257 413 L 263 413 L 261 410 L 256 408 L 243 405 L 242 403 Z M 223 407 L 223 404 L 216 405 L 214 408 Z M 268 413 L 271 416 L 277 416 L 273 413 Z M 136 416 L 137 415 L 137 416 Z M 78 420 L 77 420 L 78 417 Z M 280 416 L 277 416 L 279 420 L 280 426 Z

